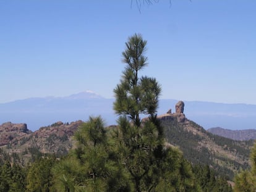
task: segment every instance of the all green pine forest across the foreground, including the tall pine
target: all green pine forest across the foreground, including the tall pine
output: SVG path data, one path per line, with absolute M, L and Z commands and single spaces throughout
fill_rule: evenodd
M 0 191 L 255 191 L 256 144 L 250 169 L 235 175 L 232 186 L 226 175 L 187 161 L 181 149 L 166 142 L 156 114 L 160 83 L 140 76 L 148 65 L 147 41 L 135 34 L 125 45 L 125 67 L 114 88 L 117 126 L 106 127 L 100 116 L 89 117 L 75 132 L 75 147 L 67 154 L 56 157 L 30 149 L 34 155 L 25 165 L 0 149 Z M 171 133 L 169 140 L 174 140 Z

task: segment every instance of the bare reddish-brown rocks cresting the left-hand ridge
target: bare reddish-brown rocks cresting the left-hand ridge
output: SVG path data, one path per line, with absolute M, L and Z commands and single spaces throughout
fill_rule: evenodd
M 36 146 L 41 150 L 48 149 L 49 141 L 53 140 L 56 142 L 54 148 L 51 146 L 51 149 L 49 148 L 46 152 L 56 152 L 62 145 L 62 141 L 66 141 L 66 145 L 71 146 L 69 139 L 82 123 L 82 120 L 71 123 L 56 122 L 47 127 L 41 127 L 35 132 L 28 130 L 25 123 L 3 123 L 0 125 L 0 146 L 18 144 L 20 149 L 23 145 L 29 148 L 36 141 Z

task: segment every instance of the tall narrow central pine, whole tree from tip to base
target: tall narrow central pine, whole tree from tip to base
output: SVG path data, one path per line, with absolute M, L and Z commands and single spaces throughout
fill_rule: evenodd
M 153 122 L 143 123 L 140 114 L 155 115 L 161 92 L 155 78 L 139 77 L 139 71 L 147 65 L 145 57 L 147 41 L 142 35 L 131 36 L 122 52 L 122 61 L 127 64 L 122 80 L 114 89 L 114 111 L 119 117 L 119 149 L 122 164 L 130 173 L 135 191 L 142 191 L 142 182 L 151 169 L 151 157 L 158 146 L 158 131 Z M 130 123 L 130 121 L 132 123 Z

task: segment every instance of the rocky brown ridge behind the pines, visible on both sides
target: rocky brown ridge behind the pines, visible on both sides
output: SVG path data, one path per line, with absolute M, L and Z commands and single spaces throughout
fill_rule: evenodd
M 249 154 L 253 141 L 234 141 L 213 135 L 187 119 L 181 108 L 176 106 L 175 113 L 169 111 L 158 116 L 158 119 L 164 127 L 166 141 L 181 149 L 188 161 L 192 164 L 210 165 L 218 173 L 229 178 L 233 178 L 237 170 L 249 167 Z M 27 130 L 25 124 L 4 123 L 0 126 L 0 131 L 4 133 L 1 136 L 6 139 L 1 140 L 1 149 L 9 153 L 11 161 L 22 164 L 31 158 L 33 161 L 44 153 L 61 157 L 74 146 L 72 135 L 82 123 L 82 121 L 70 124 L 57 122 L 41 127 L 35 132 Z M 9 129 L 6 128 L 7 125 Z M 18 125 L 23 129 L 17 128 Z M 2 152 L 0 156 L 4 156 L 4 151 L 0 151 Z

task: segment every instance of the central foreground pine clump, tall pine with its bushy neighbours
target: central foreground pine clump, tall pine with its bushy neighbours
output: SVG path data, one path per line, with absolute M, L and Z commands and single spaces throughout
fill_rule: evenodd
M 146 44 L 135 34 L 122 52 L 126 67 L 114 89 L 117 128 L 90 117 L 77 130 L 76 148 L 53 169 L 56 191 L 200 191 L 181 151 L 164 144 L 156 115 L 160 85 L 139 74 L 147 65 Z

